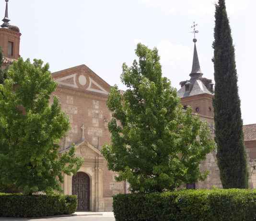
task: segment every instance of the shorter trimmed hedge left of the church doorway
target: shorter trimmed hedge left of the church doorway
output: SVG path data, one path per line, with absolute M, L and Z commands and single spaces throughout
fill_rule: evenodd
M 0 217 L 42 217 L 72 214 L 76 196 L 0 193 Z

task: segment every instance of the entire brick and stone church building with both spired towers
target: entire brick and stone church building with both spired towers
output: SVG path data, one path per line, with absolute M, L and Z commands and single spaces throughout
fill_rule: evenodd
M 4 68 L 20 57 L 21 33 L 18 27 L 9 22 L 6 0 L 5 17 L 0 28 Z M 202 77 L 196 40 L 194 43 L 190 80 L 181 82 L 177 94 L 184 108 L 191 106 L 194 114 L 208 122 L 214 136 L 213 83 Z M 84 159 L 75 176 L 65 175 L 63 191 L 65 194 L 78 196 L 78 210 L 111 211 L 113 195 L 128 192 L 128 183 L 115 181 L 116 174 L 107 169 L 106 160 L 100 152 L 103 144 L 110 142 L 107 125 L 111 113 L 107 109 L 106 100 L 111 86 L 85 65 L 52 73 L 52 77 L 58 83 L 52 97 L 59 99 L 71 125 L 69 133 L 61 140 L 59 153 L 64 153 L 75 144 L 76 155 Z M 256 124 L 244 126 L 244 137 L 251 172 L 250 186 L 256 188 Z M 216 152 L 207 155 L 201 169 L 210 171 L 207 180 L 188 184 L 187 188 L 221 188 Z

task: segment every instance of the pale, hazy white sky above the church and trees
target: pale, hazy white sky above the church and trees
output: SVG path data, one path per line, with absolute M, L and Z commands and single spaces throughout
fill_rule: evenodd
M 136 59 L 136 44 L 157 47 L 163 76 L 179 89 L 193 58 L 191 25 L 203 77 L 213 79 L 215 0 L 9 0 L 9 18 L 22 33 L 21 56 L 40 58 L 52 72 L 85 64 L 110 85 L 122 64 Z M 256 1 L 226 0 L 235 46 L 244 124 L 256 123 Z M 4 17 L 5 1 L 0 0 Z

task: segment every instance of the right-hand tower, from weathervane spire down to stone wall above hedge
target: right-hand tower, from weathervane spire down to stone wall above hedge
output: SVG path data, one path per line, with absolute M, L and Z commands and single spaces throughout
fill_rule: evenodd
M 203 77 L 200 67 L 195 36 L 198 33 L 196 26 L 197 24 L 194 22 L 192 26 L 192 33 L 194 33 L 194 55 L 192 70 L 189 74 L 190 79 L 180 82 L 181 88 L 177 91 L 177 95 L 180 97 L 184 109 L 190 106 L 192 112 L 197 114 L 201 121 L 208 123 L 211 135 L 214 137 L 213 83 L 211 79 Z M 201 163 L 200 169 L 202 171 L 209 171 L 207 179 L 187 184 L 187 188 L 211 188 L 212 186 L 222 188 L 215 151 L 207 155 L 206 160 Z

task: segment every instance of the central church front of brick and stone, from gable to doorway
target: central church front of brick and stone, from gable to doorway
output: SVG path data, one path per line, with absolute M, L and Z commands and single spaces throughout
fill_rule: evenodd
M 52 74 L 58 83 L 53 96 L 68 114 L 71 130 L 61 141 L 60 153 L 75 144 L 76 155 L 84 159 L 79 173 L 65 175 L 65 194 L 78 195 L 78 210 L 111 211 L 112 196 L 125 193 L 126 183 L 115 181 L 116 174 L 107 169 L 101 155 L 102 145 L 110 142 L 106 107 L 110 85 L 85 65 Z

